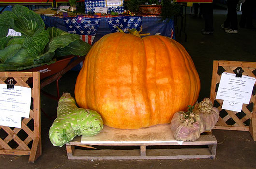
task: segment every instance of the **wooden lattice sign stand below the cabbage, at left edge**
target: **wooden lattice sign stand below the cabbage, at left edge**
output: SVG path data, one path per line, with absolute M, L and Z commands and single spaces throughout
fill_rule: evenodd
M 13 78 L 15 86 L 30 87 L 26 82 L 33 79 L 31 88 L 31 109 L 29 118 L 22 118 L 21 128 L 0 126 L 0 154 L 29 155 L 33 163 L 41 155 L 40 126 L 40 73 L 39 72 L 0 72 L 0 84 Z

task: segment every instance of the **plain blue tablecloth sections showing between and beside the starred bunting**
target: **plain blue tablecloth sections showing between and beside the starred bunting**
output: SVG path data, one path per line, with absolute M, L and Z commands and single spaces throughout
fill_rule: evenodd
M 51 16 L 44 16 L 44 15 L 41 15 L 41 17 L 45 23 L 46 28 L 56 27 L 61 30 L 67 31 L 66 24 L 64 21 L 65 18 L 58 18 L 58 17 L 51 17 Z M 109 18 L 102 17 L 100 19 L 101 19 L 100 26 L 97 30 L 93 43 L 99 40 L 102 36 L 108 33 L 112 33 L 107 22 L 107 19 Z M 173 24 L 173 20 L 171 19 L 161 21 L 160 17 L 142 16 L 141 24 L 143 28 L 143 33 L 150 33 L 150 35 L 160 34 L 160 35 L 172 37 L 173 39 L 175 39 L 174 24 Z

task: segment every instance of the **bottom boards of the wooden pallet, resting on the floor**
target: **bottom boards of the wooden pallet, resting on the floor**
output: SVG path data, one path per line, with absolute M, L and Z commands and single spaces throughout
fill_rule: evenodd
M 132 159 L 192 159 L 215 158 L 208 148 L 184 149 L 148 149 L 146 156 L 141 156 L 139 149 L 134 150 L 79 150 L 75 149 L 68 159 L 78 160 L 132 160 Z

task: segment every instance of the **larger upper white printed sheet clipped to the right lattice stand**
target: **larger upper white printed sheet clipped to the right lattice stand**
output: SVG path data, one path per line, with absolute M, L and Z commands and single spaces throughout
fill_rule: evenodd
M 222 73 L 216 99 L 249 104 L 255 78 Z

